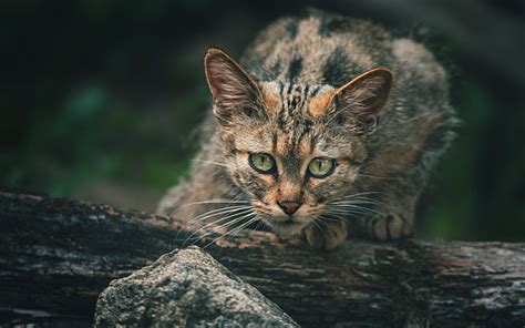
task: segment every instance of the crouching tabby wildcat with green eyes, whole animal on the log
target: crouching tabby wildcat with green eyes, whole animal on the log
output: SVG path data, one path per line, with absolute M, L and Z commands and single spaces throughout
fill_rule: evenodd
M 213 114 L 193 170 L 158 213 L 262 222 L 332 249 L 350 234 L 410 237 L 429 171 L 454 133 L 444 69 L 373 23 L 310 10 L 266 28 L 239 62 L 212 48 Z

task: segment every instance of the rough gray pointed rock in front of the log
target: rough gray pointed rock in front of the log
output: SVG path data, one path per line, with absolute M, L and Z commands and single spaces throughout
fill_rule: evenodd
M 276 304 L 192 246 L 113 280 L 95 327 L 298 327 Z

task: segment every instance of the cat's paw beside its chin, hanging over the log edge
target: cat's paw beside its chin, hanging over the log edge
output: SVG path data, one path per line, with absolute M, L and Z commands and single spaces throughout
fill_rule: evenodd
M 344 243 L 348 236 L 347 224 L 344 222 L 330 222 L 321 227 L 309 225 L 302 233 L 312 248 L 333 249 Z

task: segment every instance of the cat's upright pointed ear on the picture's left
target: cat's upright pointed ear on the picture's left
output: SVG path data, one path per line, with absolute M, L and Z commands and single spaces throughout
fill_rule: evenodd
M 230 122 L 238 114 L 251 116 L 260 99 L 257 82 L 225 51 L 210 48 L 204 58 L 204 69 L 214 96 L 214 114 Z

